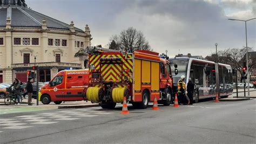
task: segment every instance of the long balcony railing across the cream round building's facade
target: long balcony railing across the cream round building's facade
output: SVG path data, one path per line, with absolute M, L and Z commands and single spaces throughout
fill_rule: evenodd
M 25 68 L 35 66 L 35 63 L 17 63 L 11 64 L 12 68 Z M 73 68 L 81 68 L 81 64 L 79 63 L 66 63 L 66 62 L 38 62 L 36 63 L 38 67 L 73 67 Z

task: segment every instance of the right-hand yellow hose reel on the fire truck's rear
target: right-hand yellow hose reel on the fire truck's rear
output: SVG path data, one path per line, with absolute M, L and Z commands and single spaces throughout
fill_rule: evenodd
M 123 103 L 124 97 L 129 95 L 129 90 L 126 88 L 114 88 L 112 90 L 112 99 L 114 103 Z

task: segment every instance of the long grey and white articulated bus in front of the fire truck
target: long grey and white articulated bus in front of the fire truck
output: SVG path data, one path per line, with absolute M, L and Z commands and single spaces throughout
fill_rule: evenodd
M 220 83 L 220 97 L 232 95 L 232 68 L 230 65 L 188 57 L 176 57 L 169 60 L 171 69 L 174 69 L 174 64 L 177 64 L 179 70 L 178 75 L 173 76 L 174 87 L 177 87 L 180 76 L 186 76 L 186 84 L 188 78 L 191 78 L 195 85 L 193 99 L 196 103 L 198 103 L 199 99 L 214 98 L 216 96 L 217 76 Z

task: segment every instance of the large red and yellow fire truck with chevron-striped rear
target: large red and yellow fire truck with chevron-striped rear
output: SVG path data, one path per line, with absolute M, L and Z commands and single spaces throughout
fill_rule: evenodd
M 172 102 L 171 67 L 158 53 L 143 50 L 95 53 L 90 54 L 89 64 L 86 99 L 103 108 L 112 109 L 116 103 L 123 103 L 124 97 L 140 109 L 146 109 L 154 97 L 164 105 Z

